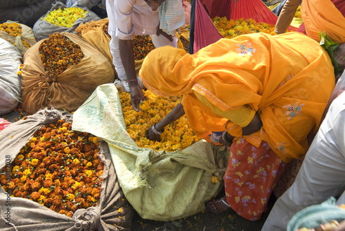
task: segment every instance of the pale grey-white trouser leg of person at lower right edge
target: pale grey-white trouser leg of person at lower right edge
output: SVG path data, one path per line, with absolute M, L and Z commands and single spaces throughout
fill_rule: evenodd
M 345 189 L 345 159 L 329 140 L 320 140 L 318 135 L 295 182 L 277 199 L 262 231 L 286 230 L 296 212 L 335 197 Z

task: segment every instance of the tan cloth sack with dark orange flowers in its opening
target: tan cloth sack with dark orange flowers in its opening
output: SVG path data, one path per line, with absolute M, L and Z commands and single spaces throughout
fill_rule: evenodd
M 77 34 L 50 34 L 23 57 L 23 109 L 34 114 L 43 108 L 73 112 L 97 86 L 115 79 L 112 64 Z

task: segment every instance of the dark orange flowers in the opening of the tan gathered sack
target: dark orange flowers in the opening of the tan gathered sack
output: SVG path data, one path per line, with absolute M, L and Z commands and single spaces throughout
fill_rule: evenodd
M 46 72 L 55 77 L 84 57 L 80 46 L 63 34 L 50 34 L 39 46 L 39 54 Z

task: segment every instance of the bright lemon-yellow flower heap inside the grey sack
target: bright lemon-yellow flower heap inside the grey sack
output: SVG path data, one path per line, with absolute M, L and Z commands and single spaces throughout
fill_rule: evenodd
M 88 11 L 77 7 L 59 8 L 50 11 L 42 20 L 55 26 L 71 28 L 77 19 L 85 18 L 86 14 Z

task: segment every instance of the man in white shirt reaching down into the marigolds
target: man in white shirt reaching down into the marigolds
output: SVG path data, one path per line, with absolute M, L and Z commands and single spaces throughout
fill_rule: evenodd
M 111 36 L 110 52 L 121 88 L 130 92 L 134 110 L 146 100 L 135 72 L 132 37 L 150 34 L 153 45 L 177 47 L 177 38 L 159 29 L 159 6 L 165 0 L 106 0 L 109 19 L 108 33 Z M 182 3 L 181 3 L 182 7 Z

